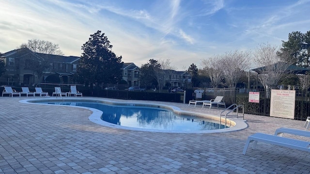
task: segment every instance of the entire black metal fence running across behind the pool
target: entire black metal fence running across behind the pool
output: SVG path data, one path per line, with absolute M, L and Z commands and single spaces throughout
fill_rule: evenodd
M 4 86 L 11 86 L 16 91 L 22 91 L 25 85 L 9 84 L 0 82 L 0 91 Z M 42 87 L 43 91 L 50 95 L 55 91 L 54 87 L 61 87 L 62 92 L 69 92 L 70 86 L 76 84 L 47 84 L 33 83 L 28 85 L 30 91 L 35 91 L 35 87 Z M 247 114 L 270 116 L 270 91 L 265 89 L 246 89 L 246 88 L 188 88 L 186 92 L 171 92 L 171 90 L 156 88 L 141 88 L 141 90 L 128 90 L 127 85 L 106 84 L 101 86 L 76 85 L 77 90 L 83 96 L 105 97 L 124 100 L 148 100 L 163 102 L 185 102 L 189 100 L 211 100 L 217 96 L 224 96 L 226 106 L 231 104 L 242 104 L 244 112 Z M 248 92 L 260 92 L 259 103 L 248 102 Z M 294 119 L 306 120 L 310 116 L 310 91 L 295 90 L 295 110 Z M 185 100 L 185 101 L 184 101 Z

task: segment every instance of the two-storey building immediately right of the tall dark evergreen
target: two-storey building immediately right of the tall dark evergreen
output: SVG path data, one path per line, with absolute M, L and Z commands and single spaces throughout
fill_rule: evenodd
M 124 63 L 122 67 L 123 80 L 129 87 L 139 87 L 140 68 L 134 63 Z

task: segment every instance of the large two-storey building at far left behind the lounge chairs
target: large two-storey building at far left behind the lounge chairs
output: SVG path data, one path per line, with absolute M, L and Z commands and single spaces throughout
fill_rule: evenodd
M 2 54 L 0 58 L 6 65 L 6 72 L 0 80 L 23 86 L 46 82 L 49 77 L 53 77 L 49 79 L 57 80 L 59 83 L 69 83 L 70 78 L 77 71 L 79 60 L 79 57 L 74 56 L 35 53 L 28 48 L 9 51 Z M 43 64 L 46 68 L 42 68 Z

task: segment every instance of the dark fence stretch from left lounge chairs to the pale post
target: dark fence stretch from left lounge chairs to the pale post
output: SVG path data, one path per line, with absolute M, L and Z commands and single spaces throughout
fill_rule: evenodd
M 0 82 L 0 91 L 4 86 L 10 86 L 16 91 L 22 91 L 21 87 L 29 87 L 30 91 L 35 91 L 35 87 L 41 87 L 44 92 L 52 95 L 55 87 L 61 87 L 62 92 L 69 92 L 71 85 L 76 85 L 77 90 L 83 93 L 83 96 L 105 97 L 124 100 L 149 100 L 164 102 L 184 102 L 184 92 L 171 92 L 168 89 L 158 90 L 156 88 L 143 88 L 131 90 L 127 85 L 122 84 L 104 84 L 100 86 L 85 86 L 77 84 L 58 84 L 58 83 L 7 83 Z M 187 101 L 188 102 L 188 101 Z

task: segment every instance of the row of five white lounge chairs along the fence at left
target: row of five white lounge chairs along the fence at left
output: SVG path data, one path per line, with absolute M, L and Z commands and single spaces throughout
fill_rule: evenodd
M 29 90 L 29 87 L 21 87 L 22 91 L 17 92 L 15 89 L 12 89 L 12 87 L 4 87 L 4 90 L 2 91 L 2 97 L 4 94 L 9 94 L 9 96 L 21 96 L 22 94 L 25 94 L 27 97 L 33 96 L 35 97 L 36 95 L 39 95 L 40 97 L 46 96 L 49 97 L 48 92 L 43 92 L 41 87 L 35 87 L 35 92 L 31 92 Z M 70 86 L 71 90 L 69 92 L 62 92 L 61 87 L 55 87 L 55 92 L 52 93 L 52 96 L 81 96 L 83 97 L 83 94 L 81 92 L 78 92 L 77 86 Z

